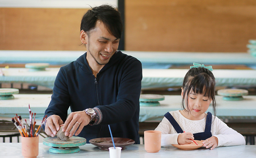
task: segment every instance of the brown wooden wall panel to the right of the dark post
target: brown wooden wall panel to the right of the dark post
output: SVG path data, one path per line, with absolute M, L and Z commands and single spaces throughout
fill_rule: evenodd
M 255 0 L 127 0 L 125 50 L 246 52 Z

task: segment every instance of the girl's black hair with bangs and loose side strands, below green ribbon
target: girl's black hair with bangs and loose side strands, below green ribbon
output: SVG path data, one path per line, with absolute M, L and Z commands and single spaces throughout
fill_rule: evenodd
M 216 100 L 215 100 L 215 77 L 212 72 L 204 67 L 191 68 L 184 77 L 183 80 L 183 97 L 182 97 L 182 109 L 185 109 L 184 97 L 187 96 L 187 108 L 188 108 L 188 95 L 191 92 L 196 94 L 203 94 L 204 96 L 212 99 L 213 115 L 216 116 Z M 186 110 L 188 112 L 188 110 Z

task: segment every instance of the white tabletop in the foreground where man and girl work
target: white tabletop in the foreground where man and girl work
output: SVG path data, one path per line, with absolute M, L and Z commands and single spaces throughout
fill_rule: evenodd
M 21 155 L 21 143 L 0 143 L 1 158 L 23 158 Z M 109 152 L 100 150 L 92 144 L 80 146 L 80 152 L 73 154 L 53 154 L 49 152 L 49 147 L 39 143 L 39 154 L 37 158 L 108 158 Z M 158 153 L 147 153 L 144 145 L 130 145 L 121 151 L 121 158 L 242 158 L 256 157 L 255 145 L 216 147 L 213 150 L 201 147 L 195 150 L 181 150 L 173 146 L 161 147 Z

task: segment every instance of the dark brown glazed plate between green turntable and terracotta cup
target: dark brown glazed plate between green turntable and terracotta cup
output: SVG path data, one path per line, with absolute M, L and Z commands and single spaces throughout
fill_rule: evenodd
M 128 138 L 113 138 L 116 147 L 122 147 L 122 150 L 126 146 L 134 144 L 134 140 Z M 111 137 L 109 138 L 95 138 L 89 140 L 92 145 L 99 147 L 101 150 L 108 150 L 109 147 L 114 147 Z

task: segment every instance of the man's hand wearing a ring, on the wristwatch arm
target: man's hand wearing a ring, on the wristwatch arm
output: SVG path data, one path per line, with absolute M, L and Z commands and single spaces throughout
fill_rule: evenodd
M 62 127 L 62 132 L 65 132 L 65 136 L 68 137 L 72 137 L 76 132 L 75 136 L 77 136 L 82 131 L 84 126 L 90 123 L 90 120 L 91 117 L 84 111 L 71 112 Z

